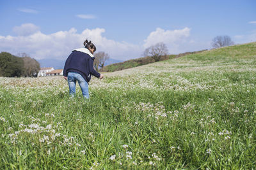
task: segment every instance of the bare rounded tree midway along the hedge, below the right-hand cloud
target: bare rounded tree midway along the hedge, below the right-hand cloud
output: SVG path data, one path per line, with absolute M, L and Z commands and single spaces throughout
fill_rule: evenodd
M 144 57 L 150 56 L 152 57 L 156 62 L 160 60 L 162 56 L 167 55 L 168 49 L 164 43 L 157 43 L 156 45 L 152 45 L 148 47 L 143 55 Z

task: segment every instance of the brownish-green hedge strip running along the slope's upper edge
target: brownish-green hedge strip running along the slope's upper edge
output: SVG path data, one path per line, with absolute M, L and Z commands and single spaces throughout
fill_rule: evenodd
M 167 56 L 163 56 L 160 58 L 160 61 L 162 60 L 169 60 L 169 59 L 174 59 L 174 58 L 178 58 L 178 57 L 182 57 L 184 55 L 188 55 L 191 53 L 200 53 L 203 52 L 205 50 L 202 51 L 198 51 L 198 52 L 186 52 L 186 53 L 180 53 L 179 55 L 167 55 Z M 106 72 L 113 72 L 113 71 L 120 71 L 123 69 L 128 69 L 128 68 L 132 68 L 132 67 L 138 67 L 138 66 L 143 66 L 145 64 L 150 64 L 155 62 L 155 60 L 152 57 L 141 57 L 139 59 L 131 59 L 131 60 L 127 60 L 124 62 L 118 62 L 115 64 L 110 64 L 106 67 L 103 67 L 103 69 L 101 69 L 101 71 L 106 71 Z

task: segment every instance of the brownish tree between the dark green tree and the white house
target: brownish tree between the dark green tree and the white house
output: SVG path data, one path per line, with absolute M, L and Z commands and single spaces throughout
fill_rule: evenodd
M 22 57 L 24 62 L 24 73 L 22 76 L 31 77 L 36 76 L 40 71 L 40 64 L 35 59 L 31 59 L 26 53 L 19 53 L 19 57 Z

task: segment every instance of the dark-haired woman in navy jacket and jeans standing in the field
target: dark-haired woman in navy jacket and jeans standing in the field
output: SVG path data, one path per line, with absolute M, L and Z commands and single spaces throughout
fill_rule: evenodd
M 95 59 L 93 53 L 96 51 L 95 45 L 86 39 L 84 41 L 84 47 L 73 50 L 68 56 L 63 69 L 63 76 L 65 80 L 68 80 L 70 96 L 73 97 L 76 94 L 76 81 L 78 81 L 84 99 L 88 99 L 88 83 L 92 75 L 100 79 L 104 76 L 93 68 L 93 61 Z

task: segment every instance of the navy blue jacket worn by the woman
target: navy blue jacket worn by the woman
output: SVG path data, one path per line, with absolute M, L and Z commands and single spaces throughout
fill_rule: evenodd
M 93 68 L 94 59 L 95 57 L 91 57 L 88 53 L 72 51 L 65 62 L 63 76 L 67 76 L 68 72 L 76 72 L 81 74 L 88 83 L 92 75 L 99 78 L 100 73 Z

